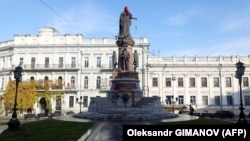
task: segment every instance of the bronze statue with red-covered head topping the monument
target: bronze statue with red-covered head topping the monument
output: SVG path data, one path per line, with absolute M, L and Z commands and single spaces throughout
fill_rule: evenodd
M 130 25 L 131 19 L 135 19 L 132 14 L 129 12 L 128 7 L 124 8 L 124 11 L 120 15 L 120 26 L 119 26 L 119 38 L 130 37 Z

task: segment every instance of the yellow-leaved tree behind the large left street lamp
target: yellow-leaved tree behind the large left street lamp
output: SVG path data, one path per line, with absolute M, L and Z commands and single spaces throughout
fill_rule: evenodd
M 4 106 L 6 109 L 12 109 L 15 103 L 16 80 L 8 82 L 4 93 Z M 17 90 L 17 108 L 20 112 L 27 109 L 33 109 L 37 100 L 34 81 L 23 81 L 18 83 Z

